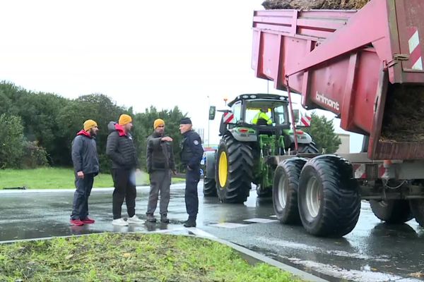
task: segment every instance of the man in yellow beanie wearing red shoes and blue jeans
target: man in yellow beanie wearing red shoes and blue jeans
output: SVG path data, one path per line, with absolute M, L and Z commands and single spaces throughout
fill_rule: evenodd
M 76 191 L 73 194 L 71 224 L 75 226 L 95 222 L 88 217 L 88 197 L 93 188 L 94 177 L 99 173 L 99 159 L 95 144 L 95 136 L 99 129 L 92 119 L 85 121 L 83 128 L 72 141 Z

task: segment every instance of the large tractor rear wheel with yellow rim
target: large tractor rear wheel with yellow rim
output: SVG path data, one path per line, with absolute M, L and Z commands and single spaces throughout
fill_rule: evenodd
M 246 202 L 252 189 L 252 149 L 232 136 L 223 137 L 218 148 L 215 179 L 221 202 Z

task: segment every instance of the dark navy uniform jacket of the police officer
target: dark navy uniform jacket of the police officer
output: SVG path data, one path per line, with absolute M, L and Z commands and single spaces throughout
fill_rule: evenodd
M 201 158 L 203 157 L 203 147 L 199 134 L 194 130 L 189 130 L 183 134 L 184 139 L 181 142 L 181 161 L 189 168 L 199 168 Z

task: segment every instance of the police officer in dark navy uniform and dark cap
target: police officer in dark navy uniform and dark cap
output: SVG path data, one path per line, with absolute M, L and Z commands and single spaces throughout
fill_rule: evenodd
M 200 180 L 200 161 L 204 153 L 200 136 L 194 132 L 192 126 L 190 118 L 183 118 L 179 123 L 179 131 L 183 135 L 181 161 L 187 169 L 184 199 L 189 219 L 184 222 L 185 227 L 196 226 L 197 212 L 199 210 L 197 183 Z

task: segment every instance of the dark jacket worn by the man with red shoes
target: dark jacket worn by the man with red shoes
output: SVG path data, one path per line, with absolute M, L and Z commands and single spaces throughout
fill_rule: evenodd
M 99 172 L 99 157 L 95 145 L 95 138 L 81 130 L 72 141 L 72 162 L 76 172 Z

